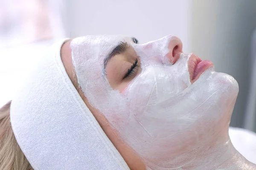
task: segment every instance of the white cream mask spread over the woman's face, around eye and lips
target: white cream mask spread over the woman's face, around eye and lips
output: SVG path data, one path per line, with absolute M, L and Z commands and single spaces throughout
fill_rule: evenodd
M 238 94 L 236 80 L 213 68 L 191 84 L 191 54 L 181 54 L 172 64 L 167 57 L 172 40 L 175 37 L 166 36 L 135 44 L 124 36 L 104 35 L 75 38 L 70 45 L 84 96 L 142 158 L 148 170 L 207 166 L 209 161 L 202 158 L 210 150 L 209 145 L 229 142 L 221 130 L 228 128 Z M 119 42 L 134 48 L 142 68 L 121 93 L 111 88 L 104 74 L 104 60 Z M 209 160 L 217 156 L 214 150 L 208 155 Z

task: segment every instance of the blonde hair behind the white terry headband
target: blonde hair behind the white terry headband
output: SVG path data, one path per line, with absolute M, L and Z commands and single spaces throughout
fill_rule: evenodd
M 33 170 L 13 134 L 10 106 L 11 101 L 0 108 L 0 170 Z

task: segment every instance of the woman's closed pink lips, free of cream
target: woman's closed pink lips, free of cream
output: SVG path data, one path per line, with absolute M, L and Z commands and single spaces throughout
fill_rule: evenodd
M 189 57 L 188 61 L 190 82 L 194 83 L 204 71 L 213 67 L 213 63 L 209 60 L 202 60 L 195 54 Z

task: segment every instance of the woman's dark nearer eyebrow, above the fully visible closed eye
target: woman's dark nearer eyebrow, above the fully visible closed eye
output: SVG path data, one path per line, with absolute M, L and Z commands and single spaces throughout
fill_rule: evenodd
M 120 41 L 118 45 L 108 54 L 104 59 L 104 70 L 109 62 L 109 60 L 117 54 L 122 54 L 129 49 L 130 45 L 125 41 Z

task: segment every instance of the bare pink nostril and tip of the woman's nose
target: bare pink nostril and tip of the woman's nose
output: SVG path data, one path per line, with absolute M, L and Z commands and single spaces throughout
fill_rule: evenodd
M 172 36 L 169 40 L 168 49 L 169 53 L 167 53 L 165 57 L 167 57 L 172 64 L 175 64 L 182 53 L 181 40 L 178 37 Z

